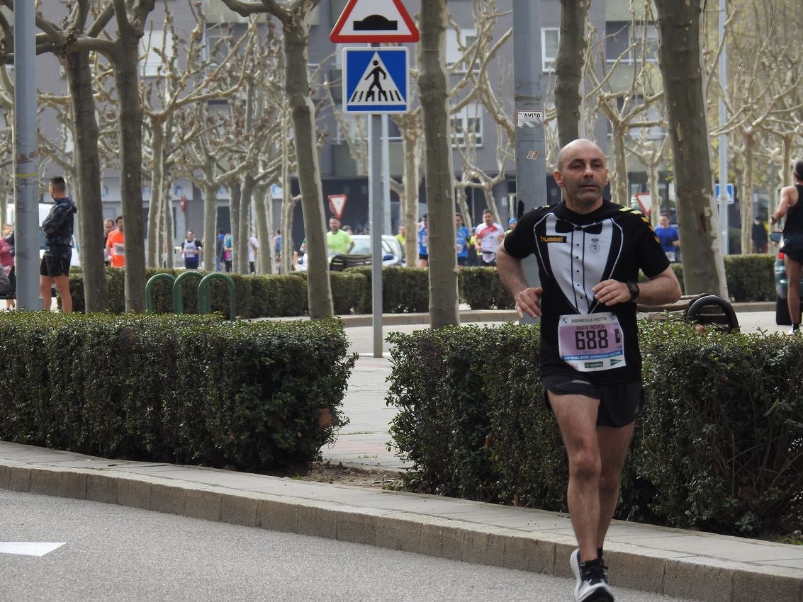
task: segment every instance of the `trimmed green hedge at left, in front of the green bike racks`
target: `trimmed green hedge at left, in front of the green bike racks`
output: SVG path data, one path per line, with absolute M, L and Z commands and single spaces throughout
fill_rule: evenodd
M 261 471 L 320 458 L 348 422 L 336 321 L 14 312 L 0 338 L 5 441 Z

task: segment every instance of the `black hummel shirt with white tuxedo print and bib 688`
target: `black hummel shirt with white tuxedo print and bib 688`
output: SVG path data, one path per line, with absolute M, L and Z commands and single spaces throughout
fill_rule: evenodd
M 606 307 L 593 298 L 603 280 L 660 274 L 669 262 L 641 212 L 604 201 L 591 214 L 565 202 L 528 211 L 507 234 L 507 254 L 536 254 L 541 287 L 541 369 L 569 364 L 597 382 L 641 379 L 635 303 Z

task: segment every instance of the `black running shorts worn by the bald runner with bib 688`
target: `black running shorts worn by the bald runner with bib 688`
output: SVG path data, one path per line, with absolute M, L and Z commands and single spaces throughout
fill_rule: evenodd
M 597 426 L 627 426 L 644 409 L 644 388 L 640 380 L 626 383 L 597 384 L 589 373 L 577 372 L 573 368 L 550 370 L 543 374 L 544 403 L 549 409 L 547 391 L 553 395 L 582 395 L 598 399 L 600 409 Z

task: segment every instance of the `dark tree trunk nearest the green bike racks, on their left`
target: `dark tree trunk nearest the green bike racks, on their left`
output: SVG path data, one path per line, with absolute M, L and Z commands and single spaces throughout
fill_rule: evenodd
M 142 224 L 142 106 L 139 36 L 120 32 L 114 80 L 120 102 L 120 196 L 125 224 L 125 311 L 145 311 L 145 231 Z

